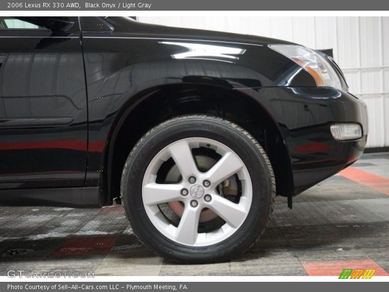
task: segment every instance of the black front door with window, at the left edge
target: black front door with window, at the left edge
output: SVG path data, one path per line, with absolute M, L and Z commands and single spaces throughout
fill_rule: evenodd
M 75 17 L 0 17 L 0 189 L 84 185 L 79 27 Z

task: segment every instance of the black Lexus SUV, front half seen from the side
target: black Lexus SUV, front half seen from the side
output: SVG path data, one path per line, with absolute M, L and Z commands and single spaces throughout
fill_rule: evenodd
M 279 39 L 120 17 L 0 18 L 0 201 L 122 202 L 185 263 L 229 259 L 277 195 L 353 164 L 366 105 L 334 60 Z

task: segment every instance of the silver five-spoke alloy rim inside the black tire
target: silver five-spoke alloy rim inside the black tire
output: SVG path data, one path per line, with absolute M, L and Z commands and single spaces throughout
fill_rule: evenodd
M 205 172 L 197 168 L 192 154 L 194 149 L 202 148 L 204 152 L 220 156 Z M 181 180 L 157 183 L 161 166 L 171 158 Z M 230 201 L 224 196 L 222 183 L 235 179 L 240 190 L 234 201 Z M 242 225 L 251 206 L 252 186 L 246 165 L 234 151 L 215 140 L 195 137 L 179 140 L 159 151 L 146 169 L 142 198 L 149 219 L 164 236 L 189 246 L 207 246 L 230 237 Z M 159 207 L 161 203 L 172 201 L 183 203 L 183 214 L 177 226 Z M 199 219 L 204 209 L 211 209 L 225 223 L 199 233 Z

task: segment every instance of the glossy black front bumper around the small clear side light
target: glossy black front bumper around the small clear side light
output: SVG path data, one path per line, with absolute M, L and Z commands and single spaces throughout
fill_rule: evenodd
M 288 151 L 294 195 L 353 164 L 368 135 L 366 104 L 354 95 L 326 87 L 274 87 L 242 90 L 278 124 Z M 356 123 L 362 137 L 337 141 L 331 125 Z M 287 165 L 285 165 L 287 167 Z

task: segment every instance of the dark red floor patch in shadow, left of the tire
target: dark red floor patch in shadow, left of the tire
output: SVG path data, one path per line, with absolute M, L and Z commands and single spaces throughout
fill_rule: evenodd
M 118 236 L 69 238 L 53 252 L 52 256 L 107 254 L 118 238 Z

